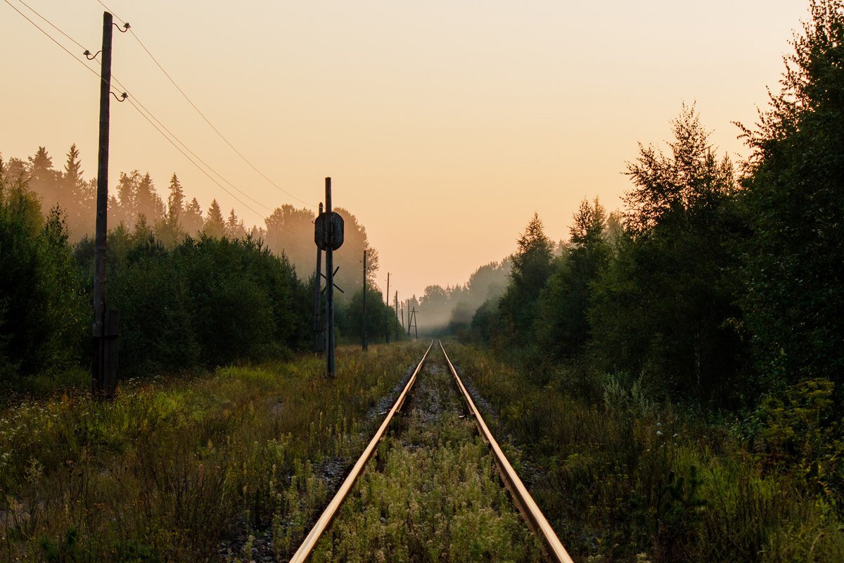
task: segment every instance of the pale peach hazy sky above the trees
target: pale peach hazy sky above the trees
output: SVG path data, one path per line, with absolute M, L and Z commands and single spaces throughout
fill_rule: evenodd
M 24 1 L 99 51 L 96 0 Z M 19 0 L 0 2 L 0 154 L 44 145 L 60 167 L 77 143 L 95 176 L 98 78 L 7 2 L 80 51 Z M 334 203 L 366 226 L 379 278 L 390 271 L 400 297 L 463 283 L 505 257 L 534 211 L 560 240 L 582 198 L 618 208 L 636 143 L 662 144 L 684 101 L 738 160 L 731 122 L 755 122 L 808 15 L 800 0 L 106 4 L 276 184 L 317 204 L 333 176 Z M 301 205 L 216 136 L 131 34 L 115 32 L 113 73 L 263 206 Z M 260 215 L 235 202 L 133 106 L 112 102 L 111 187 L 134 169 L 149 171 L 162 197 L 176 171 L 203 212 L 217 198 L 246 225 L 268 214 L 240 194 Z

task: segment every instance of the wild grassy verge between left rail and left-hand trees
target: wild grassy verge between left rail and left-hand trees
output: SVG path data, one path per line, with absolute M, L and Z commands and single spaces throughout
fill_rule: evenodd
M 300 357 L 8 407 L 0 560 L 214 560 L 268 528 L 284 558 L 327 502 L 325 468 L 354 462 L 380 422 L 367 411 L 422 350 L 340 349 L 334 381 Z

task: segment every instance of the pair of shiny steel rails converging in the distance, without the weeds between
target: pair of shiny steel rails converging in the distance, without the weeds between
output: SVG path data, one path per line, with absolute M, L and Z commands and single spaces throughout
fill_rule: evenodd
M 466 408 L 468 410 L 468 414 L 473 417 L 475 421 L 475 425 L 478 428 L 479 434 L 486 442 L 489 444 L 490 449 L 492 450 L 495 461 L 498 464 L 498 468 L 500 471 L 501 480 L 503 481 L 506 490 L 508 490 L 511 494 L 513 501 L 515 502 L 519 512 L 522 513 L 522 517 L 527 522 L 527 525 L 533 530 L 533 533 L 536 533 L 540 539 L 543 540 L 547 555 L 549 560 L 558 561 L 560 563 L 572 563 L 571 557 L 565 551 L 563 544 L 560 542 L 560 539 L 557 537 L 554 529 L 551 528 L 548 520 L 544 517 L 543 513 L 539 510 L 536 502 L 533 501 L 533 497 L 531 497 L 530 493 L 527 492 L 527 488 L 522 483 L 522 479 L 519 478 L 516 471 L 513 469 L 511 463 L 507 460 L 504 452 L 501 451 L 501 448 L 498 445 L 498 442 L 495 441 L 495 437 L 492 436 L 490 429 L 487 427 L 486 423 L 484 422 L 483 416 L 481 416 L 480 411 L 475 406 L 472 397 L 469 395 L 468 390 L 463 385 L 463 382 L 460 380 L 460 376 L 457 375 L 457 370 L 454 369 L 454 365 L 452 365 L 452 360 L 448 358 L 446 354 L 446 349 L 442 347 L 442 343 L 439 343 L 440 349 L 442 350 L 443 355 L 446 358 L 446 363 L 448 365 L 449 371 L 451 371 L 452 376 L 454 377 L 455 382 L 457 383 L 457 388 L 460 390 L 460 393 L 463 397 L 463 401 L 466 404 Z M 402 406 L 405 400 L 408 398 L 408 394 L 410 393 L 411 389 L 414 387 L 414 382 L 416 382 L 417 376 L 419 376 L 419 371 L 422 370 L 423 365 L 425 365 L 425 360 L 430 353 L 430 350 L 433 348 L 434 342 L 431 341 L 428 349 L 425 350 L 425 354 L 422 356 L 422 359 L 419 360 L 419 364 L 416 365 L 413 374 L 408 379 L 407 384 L 404 386 L 402 392 L 398 395 L 396 402 L 392 405 L 392 408 L 387 412 L 387 416 L 384 418 L 384 421 L 381 423 L 381 426 L 375 433 L 375 436 L 372 437 L 369 444 L 366 446 L 364 452 L 358 458 L 358 461 L 354 463 L 354 467 L 352 468 L 349 475 L 344 479 L 342 485 L 340 485 L 337 493 L 334 495 L 331 502 L 328 503 L 325 511 L 322 512 L 322 515 L 317 519 L 317 523 L 314 524 L 313 528 L 311 528 L 311 532 L 308 533 L 305 540 L 300 545 L 299 549 L 296 550 L 295 555 L 290 560 L 291 563 L 301 563 L 307 560 L 308 556 L 311 555 L 311 551 L 317 545 L 317 541 L 322 536 L 327 528 L 330 526 L 333 518 L 337 515 L 340 506 L 343 504 L 344 499 L 347 495 L 349 495 L 349 491 L 352 490 L 356 479 L 363 473 L 366 463 L 372 457 L 372 454 L 376 451 L 376 447 L 378 442 L 381 441 L 381 438 L 386 434 L 387 427 L 390 425 L 395 414 L 398 413 L 399 410 L 402 409 Z

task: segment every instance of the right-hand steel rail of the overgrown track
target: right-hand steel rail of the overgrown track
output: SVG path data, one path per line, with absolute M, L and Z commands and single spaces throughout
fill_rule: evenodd
M 490 444 L 492 451 L 495 453 L 495 458 L 498 461 L 498 467 L 500 468 L 501 479 L 504 481 L 506 489 L 510 491 L 513 500 L 516 501 L 519 512 L 522 512 L 522 517 L 524 517 L 525 520 L 527 520 L 528 525 L 533 528 L 533 532 L 538 533 L 542 539 L 544 539 L 545 546 L 548 548 L 548 555 L 551 560 L 557 561 L 558 563 L 574 563 L 571 560 L 571 556 L 565 550 L 565 547 L 563 547 L 562 542 L 560 542 L 560 538 L 557 537 L 557 533 L 555 533 L 554 528 L 551 528 L 548 520 L 544 517 L 542 511 L 539 510 L 539 506 L 537 506 L 536 501 L 533 501 L 533 497 L 529 492 L 527 492 L 527 488 L 522 483 L 522 479 L 519 479 L 516 470 L 513 469 L 513 466 L 509 461 L 507 461 L 507 457 L 504 455 L 504 452 L 501 451 L 498 442 L 495 441 L 495 437 L 492 436 L 492 432 L 490 432 L 490 429 L 487 428 L 487 425 L 484 422 L 484 417 L 481 416 L 480 411 L 472 400 L 472 397 L 469 395 L 466 387 L 463 386 L 463 382 L 460 381 L 460 376 L 457 375 L 457 370 L 454 369 L 452 360 L 449 360 L 448 355 L 446 354 L 446 349 L 442 346 L 442 342 L 438 342 L 440 342 L 442 355 L 446 356 L 448 367 L 452 371 L 454 380 L 457 382 L 457 387 L 460 388 L 460 392 L 463 393 L 463 398 L 466 399 L 469 412 L 474 417 L 475 424 L 478 426 L 481 437 L 484 441 Z

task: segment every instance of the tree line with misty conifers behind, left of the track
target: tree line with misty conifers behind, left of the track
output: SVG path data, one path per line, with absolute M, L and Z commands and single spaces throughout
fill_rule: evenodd
M 92 341 L 95 180 L 75 145 L 62 170 L 40 147 L 0 157 L 0 383 L 84 380 Z M 367 252 L 371 342 L 393 325 L 377 290 L 378 253 L 346 209 L 335 253 L 341 338 L 363 322 Z M 310 210 L 285 204 L 247 228 L 212 200 L 203 214 L 174 173 L 166 203 L 149 173 L 121 173 L 109 198 L 108 294 L 121 317 L 120 371 L 144 376 L 268 360 L 313 340 L 316 267 Z

